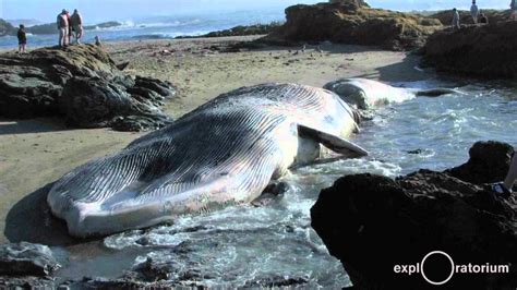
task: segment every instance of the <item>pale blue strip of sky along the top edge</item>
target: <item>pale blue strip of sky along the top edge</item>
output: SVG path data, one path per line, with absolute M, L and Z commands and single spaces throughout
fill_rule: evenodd
M 468 9 L 470 0 L 366 0 L 374 8 L 399 11 Z M 507 9 L 510 0 L 478 0 L 482 8 Z M 239 10 L 278 9 L 317 0 L 0 0 L 0 17 L 52 22 L 61 9 L 77 8 L 92 22 L 134 20 L 144 16 L 221 13 Z

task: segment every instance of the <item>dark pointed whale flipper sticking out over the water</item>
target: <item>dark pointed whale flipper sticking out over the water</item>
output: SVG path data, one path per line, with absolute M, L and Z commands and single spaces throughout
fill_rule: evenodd
M 298 124 L 298 133 L 301 136 L 305 136 L 312 138 L 323 146 L 329 148 L 333 152 L 340 153 L 340 154 L 350 154 L 353 153 L 359 156 L 368 156 L 368 152 L 363 149 L 361 146 L 344 140 L 337 135 L 323 132 L 317 129 L 309 128 L 306 125 Z

